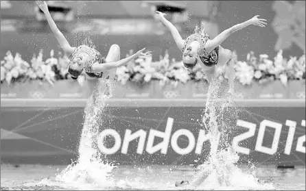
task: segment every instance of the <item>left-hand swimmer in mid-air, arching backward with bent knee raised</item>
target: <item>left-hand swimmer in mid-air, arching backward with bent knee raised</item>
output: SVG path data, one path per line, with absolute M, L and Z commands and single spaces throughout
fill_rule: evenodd
M 82 74 L 83 70 L 86 73 L 86 80 L 91 92 L 97 85 L 97 79 L 114 79 L 116 68 L 128 64 L 130 60 L 140 57 L 151 57 L 151 52 L 143 53 L 145 49 L 141 49 L 130 55 L 128 58 L 120 60 L 120 48 L 117 44 L 113 44 L 108 51 L 106 58 L 102 57 L 99 51 L 95 50 L 94 47 L 82 44 L 79 47 L 71 47 L 67 39 L 64 37 L 62 32 L 56 26 L 56 23 L 51 18 L 49 13 L 48 5 L 45 1 L 36 1 L 36 4 L 42 10 L 47 18 L 47 22 L 54 33 L 54 36 L 58 40 L 60 47 L 64 52 L 69 55 L 69 68 L 68 72 L 71 78 L 77 79 Z

